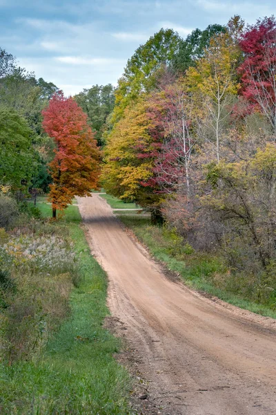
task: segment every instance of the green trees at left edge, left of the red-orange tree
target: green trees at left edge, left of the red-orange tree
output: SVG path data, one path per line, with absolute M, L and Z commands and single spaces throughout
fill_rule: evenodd
M 46 190 L 51 143 L 41 128 L 41 110 L 57 86 L 17 66 L 0 48 L 0 184 L 14 193 L 27 186 Z M 47 151 L 46 151 L 47 150 Z

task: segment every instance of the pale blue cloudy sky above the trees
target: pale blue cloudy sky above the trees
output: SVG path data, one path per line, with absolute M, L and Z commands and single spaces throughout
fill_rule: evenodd
M 66 95 L 117 84 L 128 58 L 160 28 L 248 24 L 276 14 L 275 0 L 0 0 L 0 46 Z

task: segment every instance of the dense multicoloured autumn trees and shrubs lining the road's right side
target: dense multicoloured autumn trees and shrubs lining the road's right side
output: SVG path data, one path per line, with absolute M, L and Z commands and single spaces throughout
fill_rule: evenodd
M 276 21 L 160 30 L 115 91 L 106 191 L 223 255 L 259 300 L 276 288 Z M 226 275 L 226 278 L 232 275 Z

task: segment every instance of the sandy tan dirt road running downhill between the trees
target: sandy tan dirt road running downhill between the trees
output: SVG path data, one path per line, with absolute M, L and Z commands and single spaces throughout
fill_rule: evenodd
M 276 414 L 276 324 L 171 282 L 100 196 L 78 198 L 108 304 L 161 414 Z

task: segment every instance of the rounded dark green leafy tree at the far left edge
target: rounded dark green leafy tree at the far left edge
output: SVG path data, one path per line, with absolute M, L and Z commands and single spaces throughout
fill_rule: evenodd
M 0 182 L 13 190 L 30 183 L 36 171 L 37 154 L 32 130 L 14 109 L 0 107 Z

